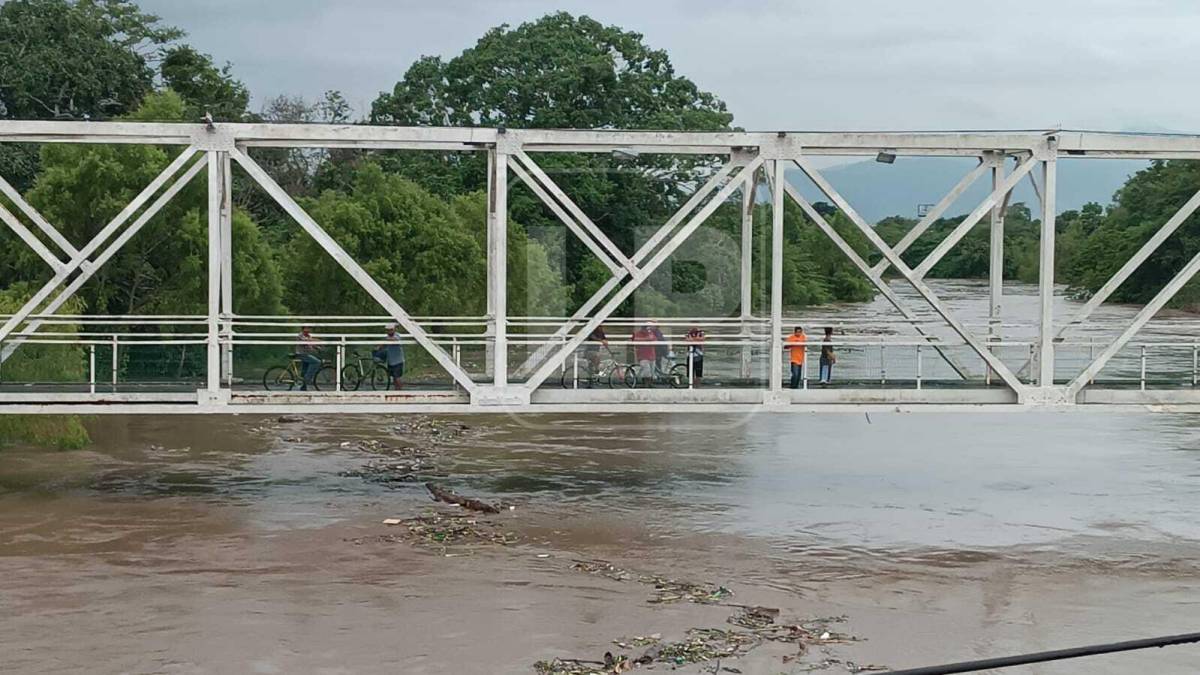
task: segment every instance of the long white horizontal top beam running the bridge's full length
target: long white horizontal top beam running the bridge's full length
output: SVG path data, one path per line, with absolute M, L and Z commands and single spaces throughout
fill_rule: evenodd
M 0 120 L 0 142 L 208 144 L 214 135 L 244 147 L 353 147 L 485 150 L 511 144 L 529 151 L 730 154 L 740 150 L 808 155 L 1022 153 L 1057 142 L 1058 156 L 1200 157 L 1200 136 L 1103 131 L 625 131 L 502 130 L 373 125 L 24 121 Z

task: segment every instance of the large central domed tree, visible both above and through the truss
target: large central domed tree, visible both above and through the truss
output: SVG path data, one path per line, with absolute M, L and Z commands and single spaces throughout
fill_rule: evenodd
M 494 28 L 448 61 L 422 58 L 371 107 L 372 123 L 397 125 L 716 131 L 732 120 L 724 102 L 677 74 L 666 52 L 647 46 L 640 34 L 565 12 L 515 29 Z M 630 253 L 640 229 L 660 225 L 686 198 L 679 189 L 683 181 L 664 180 L 662 174 L 706 167 L 709 159 L 571 155 L 539 161 Z M 383 163 L 439 195 L 485 185 L 478 154 L 406 154 Z M 558 227 L 521 187 L 514 190 L 510 211 L 530 227 Z M 582 300 L 594 264 L 582 245 L 566 243 L 568 279 L 576 300 Z

